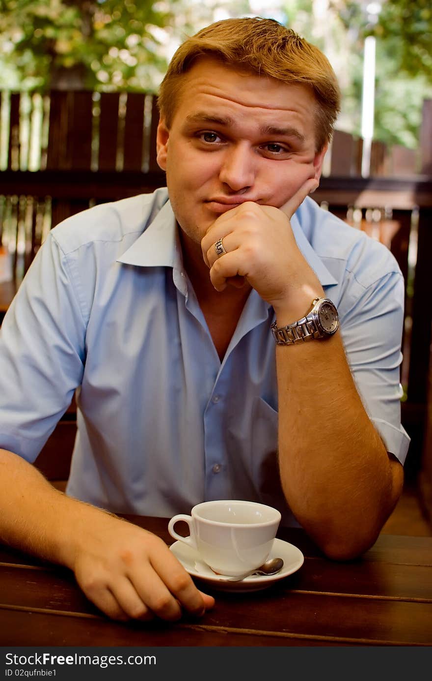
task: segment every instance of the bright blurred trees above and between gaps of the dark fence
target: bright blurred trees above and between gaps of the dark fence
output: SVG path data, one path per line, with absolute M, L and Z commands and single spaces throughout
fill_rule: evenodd
M 22 128 L 20 168 L 36 170 L 39 145 L 26 138 L 32 123 L 33 135 L 41 134 L 42 93 L 156 92 L 186 35 L 234 16 L 276 18 L 320 47 L 342 89 L 337 129 L 361 136 L 365 146 L 369 138 L 400 146 L 401 172 L 425 172 L 420 137 L 425 100 L 432 97 L 429 0 L 1 0 L 0 169 L 7 167 L 7 92 L 29 93 L 22 115 L 32 112 L 33 120 Z M 369 173 L 365 155 L 367 149 L 363 176 Z M 395 174 L 391 159 L 387 165 Z

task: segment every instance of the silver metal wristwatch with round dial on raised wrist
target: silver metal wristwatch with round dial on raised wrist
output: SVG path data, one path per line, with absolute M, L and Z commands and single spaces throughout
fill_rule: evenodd
M 329 298 L 315 298 L 303 319 L 280 328 L 275 321 L 271 324 L 271 333 L 278 345 L 292 345 L 301 340 L 329 338 L 337 332 L 338 327 L 339 315 L 335 304 Z

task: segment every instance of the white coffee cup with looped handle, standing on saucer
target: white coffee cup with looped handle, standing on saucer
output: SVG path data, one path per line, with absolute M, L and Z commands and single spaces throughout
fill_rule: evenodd
M 280 512 L 254 501 L 204 501 L 190 516 L 174 516 L 168 532 L 174 539 L 195 549 L 201 560 L 216 573 L 242 575 L 267 560 L 280 523 Z M 184 520 L 190 535 L 174 530 Z

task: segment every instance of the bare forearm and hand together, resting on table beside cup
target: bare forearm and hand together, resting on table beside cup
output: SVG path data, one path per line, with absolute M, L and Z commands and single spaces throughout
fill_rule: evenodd
M 73 569 L 108 616 L 177 620 L 203 614 L 202 594 L 162 539 L 68 498 L 16 454 L 0 449 L 0 541 Z

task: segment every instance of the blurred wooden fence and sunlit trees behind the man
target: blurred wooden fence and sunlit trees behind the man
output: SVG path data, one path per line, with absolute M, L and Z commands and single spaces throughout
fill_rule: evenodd
M 54 225 L 165 185 L 154 141 L 167 63 L 186 36 L 241 16 L 279 20 L 335 69 L 342 111 L 313 198 L 391 249 L 405 277 L 405 498 L 430 534 L 430 0 L 0 0 L 0 323 Z M 75 416 L 72 404 L 39 457 L 49 479 L 67 479 Z

